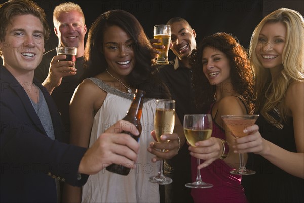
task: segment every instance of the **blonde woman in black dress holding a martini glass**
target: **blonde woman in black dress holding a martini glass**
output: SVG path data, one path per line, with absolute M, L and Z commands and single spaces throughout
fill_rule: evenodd
M 249 136 L 236 139 L 237 153 L 249 153 L 243 177 L 251 202 L 303 202 L 304 196 L 304 20 L 281 8 L 255 28 L 250 45 L 256 73 L 256 113 Z

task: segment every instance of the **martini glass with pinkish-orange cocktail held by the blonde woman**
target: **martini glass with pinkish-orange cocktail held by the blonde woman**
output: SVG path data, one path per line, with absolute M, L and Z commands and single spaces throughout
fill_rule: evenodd
M 240 138 L 248 135 L 248 133 L 244 133 L 243 130 L 248 126 L 252 126 L 257 120 L 258 116 L 259 115 L 222 115 L 221 118 L 225 123 L 225 130 L 229 130 L 233 136 Z M 255 171 L 246 169 L 244 164 L 244 155 L 240 153 L 239 157 L 239 168 L 230 171 L 230 173 L 236 175 L 255 174 Z

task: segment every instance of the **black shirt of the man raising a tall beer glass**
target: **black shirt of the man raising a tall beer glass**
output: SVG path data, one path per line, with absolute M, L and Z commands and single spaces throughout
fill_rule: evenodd
M 159 67 L 159 75 L 168 86 L 172 99 L 176 101 L 175 110 L 181 124 L 185 114 L 197 113 L 194 106 L 194 93 L 191 86 L 192 70 L 182 65 L 176 57 L 169 65 Z M 185 143 L 178 154 L 165 160 L 164 173 L 173 179 L 173 183 L 166 186 L 166 196 L 172 202 L 193 202 L 190 195 L 191 188 L 184 185 L 191 182 L 191 161 L 188 145 Z

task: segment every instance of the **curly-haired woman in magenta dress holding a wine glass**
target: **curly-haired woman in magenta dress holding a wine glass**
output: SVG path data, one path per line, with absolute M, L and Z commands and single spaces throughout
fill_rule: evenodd
M 212 115 L 213 131 L 208 140 L 189 147 L 192 178 L 201 169 L 202 180 L 213 184 L 209 189 L 192 189 L 195 202 L 247 202 L 240 175 L 230 174 L 239 165 L 239 155 L 227 143 L 235 137 L 225 131 L 221 115 L 254 112 L 254 77 L 246 50 L 227 33 L 205 37 L 193 53 L 195 103 Z M 197 166 L 196 158 L 205 160 Z

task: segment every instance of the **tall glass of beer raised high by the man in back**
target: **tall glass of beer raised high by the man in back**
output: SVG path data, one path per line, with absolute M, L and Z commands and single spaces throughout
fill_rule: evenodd
M 158 49 L 161 54 L 158 55 L 156 63 L 160 65 L 169 64 L 168 52 L 171 41 L 171 27 L 170 25 L 155 25 L 153 31 L 153 37 L 160 39 L 161 42 L 157 45 L 164 45 L 165 49 Z

